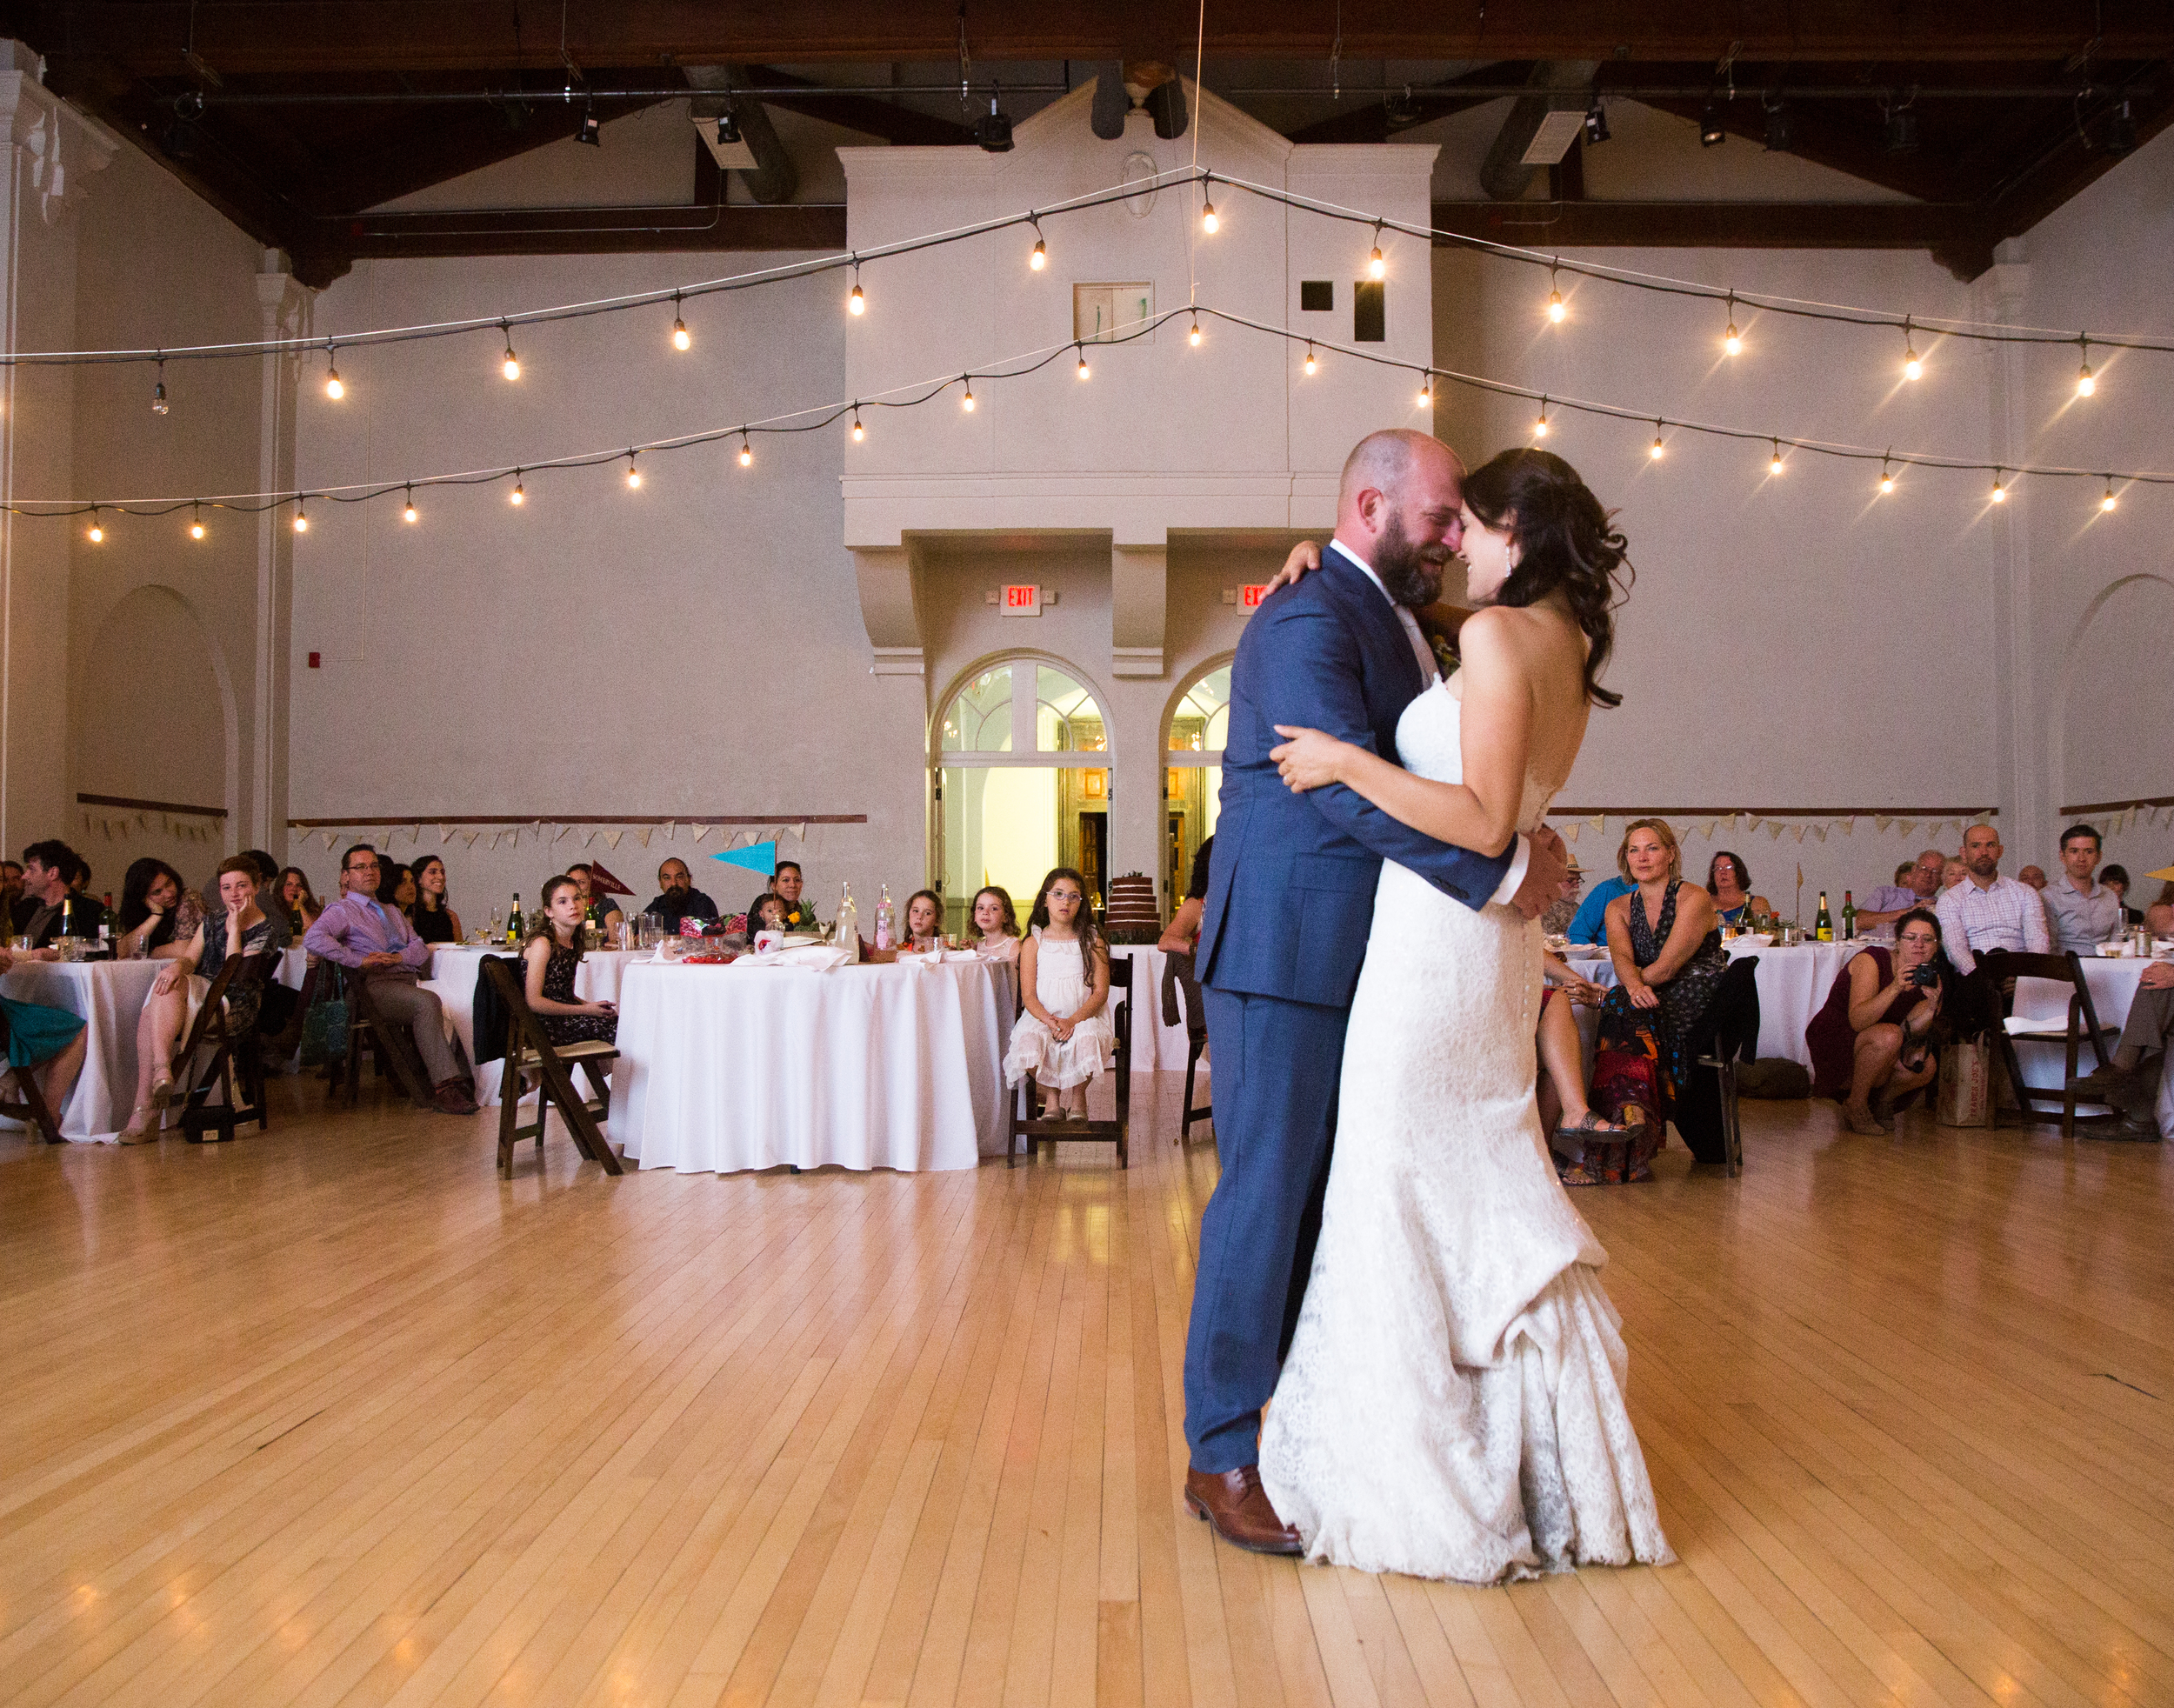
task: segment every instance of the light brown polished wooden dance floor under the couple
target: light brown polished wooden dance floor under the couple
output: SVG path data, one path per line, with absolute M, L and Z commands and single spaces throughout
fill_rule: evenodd
M 0 1134 L 0 1699 L 2174 1704 L 2159 1147 L 1748 1104 L 1583 1193 L 1683 1560 L 1487 1591 L 1185 1515 L 1215 1150 L 1137 1087 L 1130 1173 Z

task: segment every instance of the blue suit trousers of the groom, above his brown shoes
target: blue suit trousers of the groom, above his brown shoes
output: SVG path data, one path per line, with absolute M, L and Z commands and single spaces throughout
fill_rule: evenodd
M 1348 1008 L 1204 991 L 1222 1176 L 1200 1217 L 1185 1336 L 1185 1441 L 1196 1471 L 1259 1462 L 1261 1408 L 1322 1232 Z

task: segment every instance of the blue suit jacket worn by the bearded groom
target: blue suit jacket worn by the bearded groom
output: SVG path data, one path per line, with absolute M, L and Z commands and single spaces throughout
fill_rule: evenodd
M 1494 856 L 1437 843 L 1339 782 L 1294 795 L 1267 756 L 1276 724 L 1302 724 L 1394 761 L 1396 719 L 1424 687 L 1396 608 L 1335 548 L 1246 624 L 1194 952 L 1202 984 L 1348 1006 L 1385 858 L 1470 908 L 1496 893 L 1515 843 Z

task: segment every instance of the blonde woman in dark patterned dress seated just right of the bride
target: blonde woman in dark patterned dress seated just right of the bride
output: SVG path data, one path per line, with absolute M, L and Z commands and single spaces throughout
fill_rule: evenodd
M 1563 1171 L 1565 1186 L 1600 1180 L 1652 1180 L 1652 1158 L 1691 1076 L 1698 1021 L 1728 969 L 1713 897 L 1683 880 L 1676 832 L 1661 819 L 1633 819 L 1615 854 L 1633 889 L 1609 902 L 1609 958 L 1615 989 L 1600 1004 L 1594 1108 L 1639 1130 L 1622 1145 L 1622 1163 L 1585 1163 Z

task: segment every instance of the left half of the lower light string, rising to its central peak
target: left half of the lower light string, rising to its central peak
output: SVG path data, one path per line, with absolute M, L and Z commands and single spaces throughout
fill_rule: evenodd
M 1154 332 L 1163 322 L 1178 319 L 1191 313 L 1189 309 L 1163 309 L 1157 315 L 1135 322 L 1122 322 L 1111 328 L 1100 346 L 1133 343 Z M 1209 311 L 1202 311 L 1209 313 Z M 904 385 L 894 385 L 885 391 L 861 393 L 859 398 L 839 398 L 824 404 L 809 404 L 804 409 L 785 411 L 780 415 L 765 415 L 759 419 L 737 422 L 733 426 L 698 428 L 694 432 L 676 432 L 663 439 L 637 441 L 633 445 L 620 443 L 609 450 L 580 450 L 567 452 L 563 456 L 524 456 L 517 463 L 498 463 L 480 469 L 459 469 L 452 474 L 402 474 L 398 480 L 350 480 L 343 485 L 326 487 L 289 487 L 285 491 L 259 491 L 259 493 L 191 493 L 189 498 L 98 498 L 98 500 L 76 500 L 76 498 L 22 498 L 13 504 L 0 504 L 0 513 L 22 515 L 22 517 L 74 517 L 91 515 L 102 517 L 107 511 L 115 515 L 130 515 L 141 519 L 157 519 L 174 515 L 176 511 L 215 508 L 233 511 L 235 515 L 263 515 L 265 511 L 278 511 L 287 504 L 302 506 L 313 500 L 324 500 L 330 504 L 367 504 L 376 498 L 387 498 L 389 493 L 402 493 L 404 506 L 413 508 L 413 495 L 428 487 L 487 487 L 504 478 L 515 482 L 522 476 L 557 469 L 594 469 L 611 463 L 628 463 L 635 456 L 650 456 L 674 450 L 694 450 L 700 445 L 728 443 L 733 439 L 748 443 L 750 437 L 789 437 L 800 432 L 820 432 L 822 428 L 857 419 L 861 411 L 876 409 L 920 409 L 922 404 L 935 402 L 954 385 L 965 389 L 972 398 L 974 380 L 1024 380 L 1028 374 L 1037 374 L 1061 356 L 1070 356 L 1083 350 L 1080 339 L 1061 339 L 1059 343 L 1037 346 L 1035 350 L 1024 350 L 1013 356 L 1000 356 L 989 363 L 976 363 L 972 369 L 957 374 L 930 376 L 924 380 L 909 380 Z

